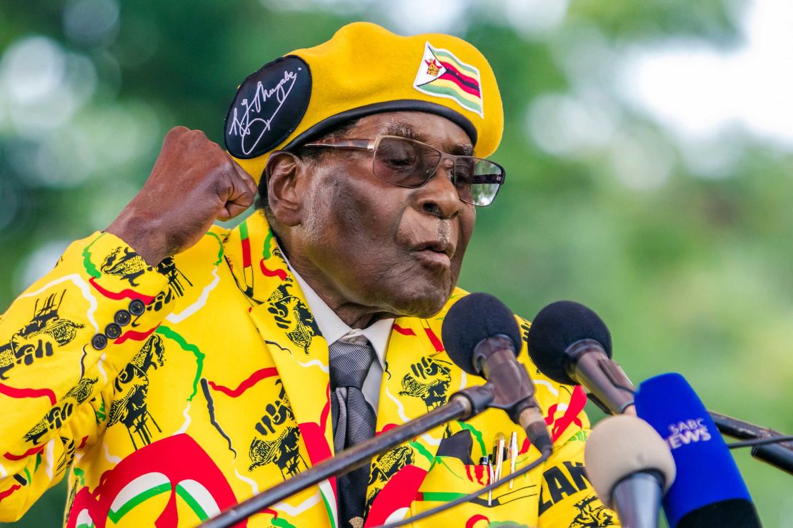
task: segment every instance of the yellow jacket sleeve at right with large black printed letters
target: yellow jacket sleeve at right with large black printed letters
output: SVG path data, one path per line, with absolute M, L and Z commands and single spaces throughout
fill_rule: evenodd
M 553 383 L 559 397 L 556 405 L 547 409 L 554 454 L 543 468 L 538 526 L 619 526 L 617 515 L 600 502 L 584 469 L 584 444 L 589 434 L 584 389 L 550 380 L 543 383 Z

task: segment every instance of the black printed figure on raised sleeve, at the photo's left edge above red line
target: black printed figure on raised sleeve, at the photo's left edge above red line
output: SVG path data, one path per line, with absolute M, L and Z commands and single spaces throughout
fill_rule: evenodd
M 60 296 L 50 294 L 44 302 L 37 298 L 30 322 L 0 346 L 0 379 L 8 379 L 6 372 L 15 365 L 31 365 L 35 359 L 52 355 L 53 344 L 63 347 L 71 343 L 77 330 L 85 326 L 59 317 L 58 310 L 65 294 L 66 290 Z

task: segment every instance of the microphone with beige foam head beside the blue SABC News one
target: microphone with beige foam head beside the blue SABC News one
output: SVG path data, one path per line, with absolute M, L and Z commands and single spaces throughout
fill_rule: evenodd
M 675 480 L 675 461 L 664 439 L 646 421 L 609 416 L 592 429 L 584 465 L 600 500 L 623 526 L 656 528 L 661 497 Z

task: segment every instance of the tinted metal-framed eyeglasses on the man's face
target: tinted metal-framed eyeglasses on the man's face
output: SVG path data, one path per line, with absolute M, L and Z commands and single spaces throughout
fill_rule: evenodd
M 374 152 L 372 172 L 381 180 L 400 187 L 416 188 L 426 184 L 444 160 L 450 163 L 446 173 L 465 203 L 484 207 L 496 199 L 504 184 L 504 167 L 490 160 L 473 156 L 446 154 L 434 146 L 397 135 L 381 135 L 377 139 L 325 139 L 304 146 L 335 149 L 365 149 Z

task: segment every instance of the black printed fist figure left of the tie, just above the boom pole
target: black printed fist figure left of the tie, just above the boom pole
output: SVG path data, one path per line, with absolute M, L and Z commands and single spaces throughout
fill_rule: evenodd
M 254 437 L 248 456 L 251 466 L 248 471 L 266 465 L 275 464 L 281 470 L 284 480 L 300 473 L 308 466 L 300 454 L 300 429 L 289 405 L 289 397 L 280 379 L 276 380 L 280 387 L 278 400 L 265 407 L 265 415 L 256 424 L 256 431 L 262 438 Z

